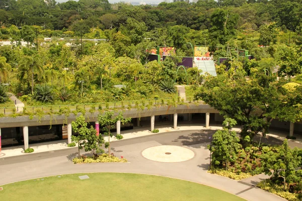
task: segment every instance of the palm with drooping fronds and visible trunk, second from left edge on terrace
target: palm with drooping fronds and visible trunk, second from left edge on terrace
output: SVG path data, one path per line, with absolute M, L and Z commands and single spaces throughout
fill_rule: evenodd
M 19 79 L 23 80 L 25 74 L 27 74 L 28 79 L 31 77 L 31 92 L 34 94 L 34 75 L 36 74 L 41 78 L 44 72 L 40 56 L 38 54 L 35 56 L 24 56 L 20 60 L 19 68 L 21 73 Z

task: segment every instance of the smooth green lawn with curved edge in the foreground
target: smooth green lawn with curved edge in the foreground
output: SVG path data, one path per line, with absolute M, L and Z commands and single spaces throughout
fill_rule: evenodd
M 81 175 L 90 178 L 80 180 Z M 244 200 L 205 185 L 143 174 L 85 173 L 42 179 L 4 185 L 1 200 Z

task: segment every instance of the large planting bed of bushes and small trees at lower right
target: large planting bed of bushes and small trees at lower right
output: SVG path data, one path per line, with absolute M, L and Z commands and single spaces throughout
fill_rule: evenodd
M 265 173 L 272 176 L 259 187 L 288 200 L 302 197 L 302 149 L 291 149 L 287 139 L 279 146 L 256 145 L 249 136 L 239 139 L 231 130 L 236 121 L 226 118 L 223 124 L 227 126 L 215 132 L 208 146 L 210 173 L 236 180 Z

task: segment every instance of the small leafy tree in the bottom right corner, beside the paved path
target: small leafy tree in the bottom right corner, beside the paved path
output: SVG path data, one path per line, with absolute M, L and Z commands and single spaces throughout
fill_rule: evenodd
M 287 139 L 284 140 L 282 146 L 278 147 L 275 152 L 270 150 L 263 154 L 261 159 L 265 174 L 273 174 L 275 178 L 283 178 L 284 190 L 286 189 L 286 182 L 300 181 L 300 171 L 297 170 L 302 164 L 299 149 L 296 147 L 290 149 Z

